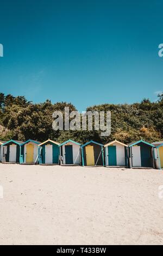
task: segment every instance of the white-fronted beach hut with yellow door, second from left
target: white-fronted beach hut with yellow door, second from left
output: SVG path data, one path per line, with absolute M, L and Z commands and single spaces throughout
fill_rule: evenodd
M 39 161 L 38 148 L 41 142 L 33 141 L 33 139 L 28 139 L 28 141 L 23 142 L 20 145 L 20 163 L 34 164 Z

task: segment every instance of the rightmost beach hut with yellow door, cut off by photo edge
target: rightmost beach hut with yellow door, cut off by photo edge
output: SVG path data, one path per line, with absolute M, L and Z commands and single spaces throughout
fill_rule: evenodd
M 153 142 L 154 145 L 154 156 L 155 156 L 155 168 L 163 168 L 163 141 Z

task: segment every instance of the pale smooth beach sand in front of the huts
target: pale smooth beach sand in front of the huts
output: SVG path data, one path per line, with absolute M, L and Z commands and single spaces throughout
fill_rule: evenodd
M 163 171 L 0 164 L 0 245 L 163 244 Z

